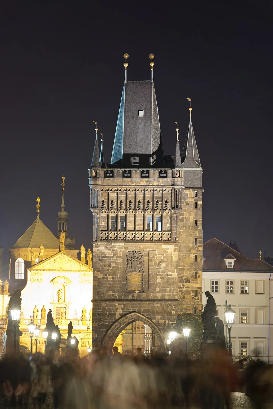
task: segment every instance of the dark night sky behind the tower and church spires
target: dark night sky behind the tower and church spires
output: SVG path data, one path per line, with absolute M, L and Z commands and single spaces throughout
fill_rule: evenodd
M 24 3 L 24 4 L 22 4 Z M 272 4 L 272 3 L 271 3 Z M 273 257 L 269 1 L 9 2 L 0 15 L 0 246 L 36 219 L 56 234 L 65 175 L 69 235 L 92 246 L 88 168 L 95 126 L 110 162 L 124 81 L 154 85 L 166 155 L 192 124 L 203 168 L 204 242 Z

